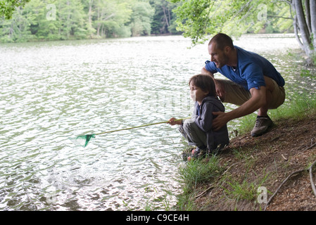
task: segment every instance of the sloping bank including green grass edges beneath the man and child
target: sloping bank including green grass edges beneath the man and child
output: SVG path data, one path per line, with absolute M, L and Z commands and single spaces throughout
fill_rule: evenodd
M 270 110 L 275 125 L 267 134 L 252 138 L 249 132 L 256 115 L 248 115 L 241 118 L 239 135 L 228 148 L 179 168 L 183 192 L 177 197 L 177 209 L 263 210 L 264 204 L 258 203 L 258 188 L 264 187 L 270 197 L 293 169 L 307 167 L 315 160 L 316 147 L 305 149 L 316 139 L 316 98 L 310 94 L 294 96 L 277 110 Z M 309 204 L 307 201 L 300 207 L 310 209 Z

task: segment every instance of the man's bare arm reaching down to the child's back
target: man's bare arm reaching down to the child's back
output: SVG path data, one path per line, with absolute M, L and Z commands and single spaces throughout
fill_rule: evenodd
M 251 98 L 243 105 L 239 106 L 239 108 L 236 108 L 228 113 L 213 113 L 213 115 L 217 115 L 215 120 L 213 120 L 213 129 L 218 130 L 230 120 L 251 114 L 255 112 L 255 110 L 258 110 L 266 105 L 267 97 L 265 86 L 260 86 L 260 89 L 252 88 L 250 89 L 250 92 Z

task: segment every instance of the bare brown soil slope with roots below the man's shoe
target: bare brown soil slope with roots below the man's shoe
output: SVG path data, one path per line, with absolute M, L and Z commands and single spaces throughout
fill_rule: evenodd
M 316 115 L 302 119 L 283 119 L 263 136 L 236 136 L 220 153 L 224 172 L 196 188 L 197 210 L 239 211 L 314 211 L 316 196 L 312 191 L 308 168 L 316 160 Z M 316 182 L 316 165 L 313 181 Z M 293 176 L 292 172 L 305 169 Z M 279 188 L 282 182 L 285 183 Z M 239 184 L 239 185 L 234 185 Z M 244 184 L 244 185 L 243 185 Z M 267 198 L 258 187 L 267 188 Z M 238 190 L 241 187 L 243 190 Z M 251 192 L 250 197 L 241 194 Z M 239 192 L 238 192 L 239 191 Z M 274 197 L 270 202 L 272 195 Z M 265 208 L 266 207 L 266 208 Z

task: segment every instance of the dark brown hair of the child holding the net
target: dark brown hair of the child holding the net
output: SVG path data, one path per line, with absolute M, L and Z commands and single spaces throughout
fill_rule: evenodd
M 210 75 L 194 75 L 189 80 L 190 84 L 199 87 L 202 91 L 208 91 L 208 96 L 216 97 L 214 79 Z

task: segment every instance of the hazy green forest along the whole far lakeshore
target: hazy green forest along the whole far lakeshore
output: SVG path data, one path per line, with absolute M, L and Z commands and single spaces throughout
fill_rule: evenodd
M 203 4 L 205 4 L 204 1 L 195 2 L 200 4 L 200 8 L 203 8 Z M 230 4 L 230 1 L 221 2 Z M 0 42 L 183 34 L 186 32 L 186 27 L 183 25 L 190 25 L 189 17 L 182 18 L 187 1 L 4 0 L 0 1 L 0 6 L 1 4 L 4 7 L 2 7 L 2 12 L 0 10 Z M 10 8 L 10 4 L 12 4 L 12 8 Z M 293 32 L 293 18 L 289 7 L 284 7 L 284 4 L 274 5 L 266 10 L 265 8 L 258 8 L 262 6 L 256 5 L 255 7 L 258 12 L 255 17 L 248 17 L 247 22 L 242 23 L 243 27 L 238 27 L 238 29 L 230 27 L 230 30 L 244 33 Z M 218 12 L 218 8 L 210 8 L 214 15 L 218 13 L 217 17 L 222 15 Z M 235 8 L 235 13 L 238 15 L 239 8 Z M 261 12 L 265 13 L 263 14 L 265 20 L 258 23 L 258 16 L 262 16 Z M 190 14 L 194 17 L 194 11 L 190 11 Z M 1 15 L 3 16 L 1 17 Z M 218 18 L 214 18 L 214 20 L 218 21 Z M 207 21 L 205 20 L 205 22 Z M 201 24 L 203 24 L 203 17 Z M 241 34 L 241 32 L 239 33 Z

